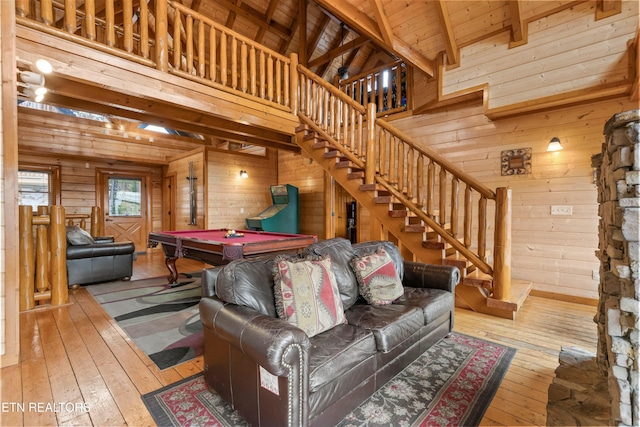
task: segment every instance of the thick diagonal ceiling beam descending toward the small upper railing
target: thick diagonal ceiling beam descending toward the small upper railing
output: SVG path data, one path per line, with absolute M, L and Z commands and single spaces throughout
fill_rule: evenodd
M 434 75 L 434 62 L 426 58 L 420 52 L 414 50 L 408 43 L 398 38 L 393 39 L 393 44 L 385 43 L 378 24 L 369 16 L 358 10 L 355 6 L 343 0 L 316 0 L 328 12 L 334 14 L 357 33 L 367 36 L 378 46 L 399 56 L 407 63 L 422 70 L 430 76 Z

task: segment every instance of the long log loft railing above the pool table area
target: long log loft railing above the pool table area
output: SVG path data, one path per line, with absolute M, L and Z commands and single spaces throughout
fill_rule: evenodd
M 16 20 L 67 40 L 284 111 L 296 56 L 264 47 L 173 0 L 16 0 Z M 117 11 L 117 13 L 116 13 Z M 117 18 L 117 19 L 116 19 Z M 155 34 L 153 38 L 150 34 Z

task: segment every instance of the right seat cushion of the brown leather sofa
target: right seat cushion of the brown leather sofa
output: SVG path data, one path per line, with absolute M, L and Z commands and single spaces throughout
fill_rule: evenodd
M 373 332 L 376 348 L 387 353 L 424 325 L 422 310 L 408 305 L 356 304 L 345 312 L 350 325 Z

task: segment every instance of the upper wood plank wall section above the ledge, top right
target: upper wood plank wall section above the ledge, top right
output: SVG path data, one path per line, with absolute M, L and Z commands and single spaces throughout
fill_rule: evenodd
M 627 43 L 637 31 L 638 3 L 623 2 L 620 14 L 598 21 L 596 8 L 580 3 L 532 21 L 528 43 L 513 49 L 509 32 L 463 47 L 460 66 L 441 70 L 442 95 L 488 85 L 487 111 L 497 112 L 534 99 L 624 90 L 631 85 Z

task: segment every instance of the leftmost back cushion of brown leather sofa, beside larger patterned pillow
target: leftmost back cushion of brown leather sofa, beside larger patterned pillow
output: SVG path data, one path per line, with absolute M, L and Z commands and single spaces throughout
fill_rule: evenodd
M 231 261 L 216 277 L 216 295 L 224 302 L 276 317 L 273 265 L 272 256 Z

